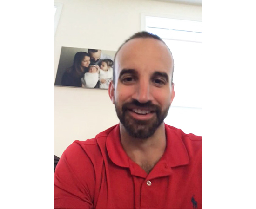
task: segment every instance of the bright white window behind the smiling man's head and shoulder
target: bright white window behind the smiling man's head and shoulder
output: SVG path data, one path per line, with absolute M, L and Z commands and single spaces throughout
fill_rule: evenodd
M 142 30 L 160 36 L 174 58 L 175 98 L 165 123 L 202 136 L 202 22 L 142 16 Z

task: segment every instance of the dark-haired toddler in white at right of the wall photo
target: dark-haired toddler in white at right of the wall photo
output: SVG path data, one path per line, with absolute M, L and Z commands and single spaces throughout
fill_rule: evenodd
M 113 61 L 111 59 L 103 59 L 100 65 L 100 88 L 108 89 L 110 81 L 113 79 Z

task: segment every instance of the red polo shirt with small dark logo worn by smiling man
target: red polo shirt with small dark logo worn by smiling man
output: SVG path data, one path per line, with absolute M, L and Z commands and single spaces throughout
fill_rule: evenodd
M 125 153 L 119 125 L 74 141 L 54 174 L 54 208 L 202 208 L 202 137 L 165 124 L 166 150 L 147 174 Z

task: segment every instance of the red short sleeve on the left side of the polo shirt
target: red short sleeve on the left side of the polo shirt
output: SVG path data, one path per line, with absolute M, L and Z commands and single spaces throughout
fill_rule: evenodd
M 93 208 L 94 166 L 80 144 L 63 152 L 54 173 L 54 208 Z

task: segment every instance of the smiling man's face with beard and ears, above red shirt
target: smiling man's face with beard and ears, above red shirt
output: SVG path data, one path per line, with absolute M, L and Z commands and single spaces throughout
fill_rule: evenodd
M 173 59 L 167 46 L 152 38 L 132 39 L 118 52 L 115 66 L 109 95 L 121 125 L 132 137 L 151 137 L 174 98 Z

